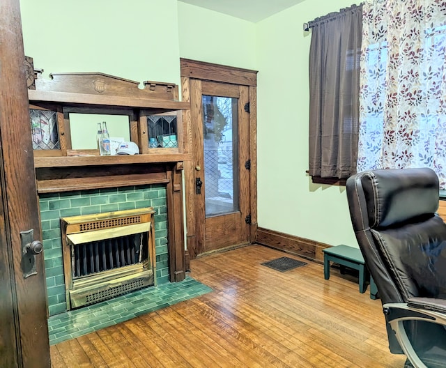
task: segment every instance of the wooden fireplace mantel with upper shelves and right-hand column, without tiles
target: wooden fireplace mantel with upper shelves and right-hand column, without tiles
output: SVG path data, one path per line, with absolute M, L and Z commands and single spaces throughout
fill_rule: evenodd
M 93 73 L 58 73 L 52 79 L 29 83 L 31 109 L 57 114 L 60 148 L 35 150 L 38 194 L 106 187 L 163 183 L 167 188 L 169 223 L 169 273 L 171 282 L 185 278 L 183 225 L 183 162 L 190 160 L 182 113 L 188 102 L 178 101 L 178 86 L 164 82 L 139 83 Z M 101 156 L 98 149 L 72 149 L 70 112 L 116 114 L 129 117 L 130 140 L 139 155 Z M 147 117 L 176 115 L 178 147 L 149 148 Z M 93 128 L 94 131 L 94 128 Z

